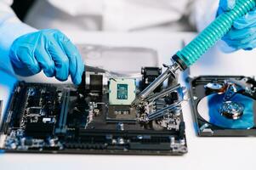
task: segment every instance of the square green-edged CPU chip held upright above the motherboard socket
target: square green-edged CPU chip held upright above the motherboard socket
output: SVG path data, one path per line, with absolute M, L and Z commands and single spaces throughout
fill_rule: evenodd
M 135 79 L 116 78 L 110 80 L 110 105 L 131 105 L 135 95 Z

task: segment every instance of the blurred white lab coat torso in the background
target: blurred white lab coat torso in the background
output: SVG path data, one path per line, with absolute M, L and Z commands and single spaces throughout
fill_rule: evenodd
M 202 30 L 213 20 L 218 0 L 40 0 L 26 23 L 37 29 L 67 31 L 187 31 Z

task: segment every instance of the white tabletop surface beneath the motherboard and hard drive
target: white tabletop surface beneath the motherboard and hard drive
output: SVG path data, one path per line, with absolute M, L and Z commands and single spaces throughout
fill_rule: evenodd
M 160 56 L 160 63 L 169 63 L 172 54 L 181 48 L 182 41 L 194 36 L 190 33 L 153 35 L 66 32 L 66 34 L 77 43 L 154 48 Z M 194 76 L 255 75 L 256 56 L 254 55 L 255 51 L 222 54 L 218 48 L 213 48 L 191 67 L 191 74 Z M 5 90 L 0 88 L 1 91 Z M 188 143 L 188 153 L 185 156 L 0 154 L 0 169 L 255 169 L 256 137 L 199 138 L 193 126 L 189 103 L 184 105 L 183 112 Z

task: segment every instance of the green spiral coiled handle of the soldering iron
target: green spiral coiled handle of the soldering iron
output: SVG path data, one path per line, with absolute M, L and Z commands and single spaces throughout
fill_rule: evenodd
M 196 62 L 202 54 L 219 41 L 219 39 L 230 31 L 234 20 L 247 14 L 256 6 L 256 0 L 236 0 L 236 6 L 232 10 L 220 14 L 207 28 L 205 28 L 193 41 L 180 50 L 176 57 L 188 67 Z M 174 59 L 177 60 L 177 59 Z

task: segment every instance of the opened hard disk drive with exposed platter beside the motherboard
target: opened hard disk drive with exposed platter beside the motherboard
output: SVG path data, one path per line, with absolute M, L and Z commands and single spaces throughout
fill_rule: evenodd
M 199 136 L 256 136 L 255 85 L 251 77 L 191 79 L 191 104 Z

